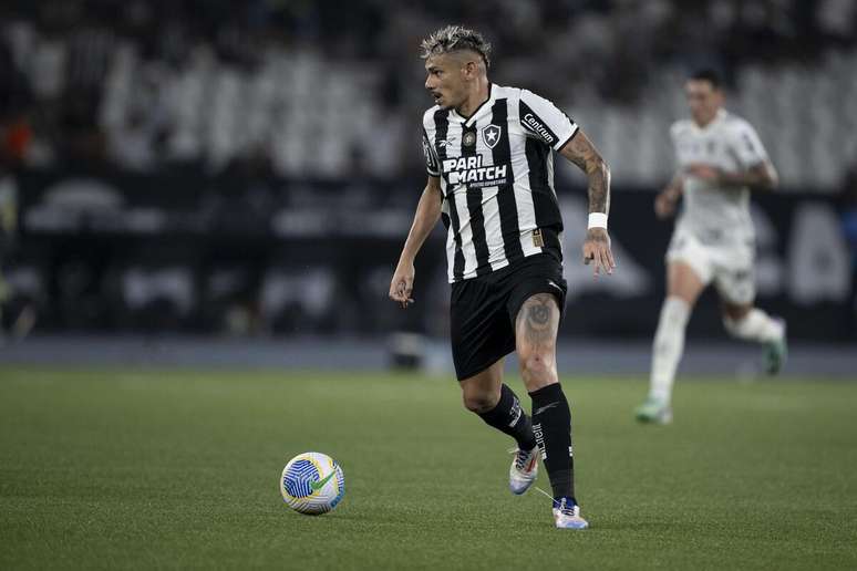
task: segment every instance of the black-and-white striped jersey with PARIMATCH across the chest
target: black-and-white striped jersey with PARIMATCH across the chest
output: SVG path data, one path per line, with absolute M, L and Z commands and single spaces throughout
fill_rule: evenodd
M 561 259 L 551 149 L 578 127 L 527 90 L 489 90 L 469 117 L 436 105 L 423 115 L 426 170 L 441 178 L 451 283 L 547 250 Z

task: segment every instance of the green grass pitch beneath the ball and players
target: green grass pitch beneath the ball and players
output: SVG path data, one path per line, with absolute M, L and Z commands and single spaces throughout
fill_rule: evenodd
M 857 569 L 857 383 L 680 381 L 669 427 L 640 378 L 562 383 L 586 531 L 451 378 L 0 368 L 0 569 Z M 279 496 L 307 450 L 332 513 Z

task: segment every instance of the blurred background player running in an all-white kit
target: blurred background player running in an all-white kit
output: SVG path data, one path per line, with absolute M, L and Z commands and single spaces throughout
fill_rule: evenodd
M 654 334 L 649 397 L 637 419 L 665 424 L 684 330 L 700 293 L 714 283 L 723 324 L 739 339 L 763 343 L 765 368 L 777 373 L 786 355 L 785 323 L 753 305 L 755 238 L 750 189 L 777 185 L 755 129 L 723 108 L 716 73 L 692 75 L 685 86 L 691 120 L 672 125 L 678 172 L 654 203 L 659 218 L 683 209 L 667 251 L 667 299 Z

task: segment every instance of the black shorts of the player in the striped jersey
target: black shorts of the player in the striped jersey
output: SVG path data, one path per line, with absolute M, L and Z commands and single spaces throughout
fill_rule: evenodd
M 515 320 L 527 299 L 553 293 L 561 319 L 567 291 L 562 264 L 551 253 L 537 253 L 515 266 L 453 283 L 450 338 L 458 381 L 515 351 Z

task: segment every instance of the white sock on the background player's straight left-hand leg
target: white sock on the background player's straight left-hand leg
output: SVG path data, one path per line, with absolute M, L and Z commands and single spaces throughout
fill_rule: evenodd
M 677 297 L 664 300 L 652 346 L 649 380 L 649 396 L 652 398 L 669 403 L 672 397 L 672 384 L 684 351 L 684 329 L 689 318 L 690 308 L 684 300 Z

